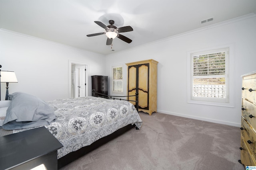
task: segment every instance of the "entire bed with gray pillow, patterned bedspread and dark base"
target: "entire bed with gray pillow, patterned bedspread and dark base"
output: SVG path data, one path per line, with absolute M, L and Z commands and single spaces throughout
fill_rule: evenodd
M 95 97 L 95 91 L 93 95 L 44 102 L 22 92 L 10 94 L 12 102 L 2 132 L 18 133 L 45 126 L 64 146 L 58 150 L 61 168 L 132 127 L 140 129 L 142 120 L 132 103 L 111 96 Z M 30 106 L 33 103 L 41 108 Z M 50 113 L 46 116 L 44 110 Z

